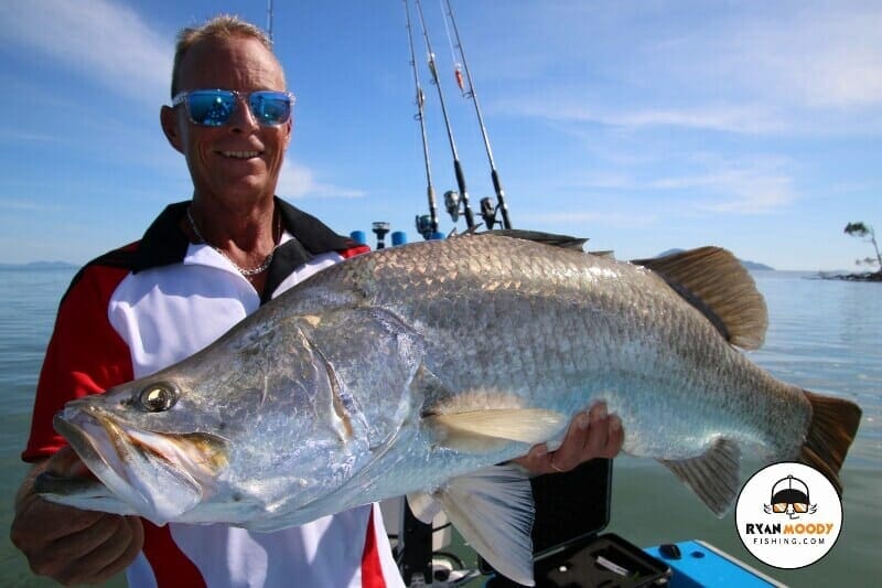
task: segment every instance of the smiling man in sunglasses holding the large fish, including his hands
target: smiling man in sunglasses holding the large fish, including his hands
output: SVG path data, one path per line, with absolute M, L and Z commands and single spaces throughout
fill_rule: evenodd
M 42 471 L 87 474 L 52 430 L 67 400 L 191 355 L 298 281 L 367 249 L 275 197 L 292 128 L 286 88 L 269 40 L 251 24 L 218 17 L 179 35 L 172 106 L 160 118 L 186 159 L 193 197 L 166 207 L 141 240 L 88 264 L 62 300 L 23 453 L 35 466 L 11 533 L 34 573 L 82 584 L 127 568 L 133 587 L 401 585 L 376 505 L 252 534 L 157 527 L 33 492 Z M 621 445 L 617 419 L 595 407 L 576 419 L 561 448 L 536 447 L 520 463 L 564 471 Z

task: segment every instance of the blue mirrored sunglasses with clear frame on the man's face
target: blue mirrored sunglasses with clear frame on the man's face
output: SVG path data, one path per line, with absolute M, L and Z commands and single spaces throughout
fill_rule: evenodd
M 191 122 L 203 127 L 223 127 L 236 111 L 239 97 L 246 99 L 251 115 L 265 127 L 283 125 L 291 118 L 294 95 L 290 92 L 236 92 L 235 89 L 193 89 L 181 92 L 172 106 L 183 104 Z

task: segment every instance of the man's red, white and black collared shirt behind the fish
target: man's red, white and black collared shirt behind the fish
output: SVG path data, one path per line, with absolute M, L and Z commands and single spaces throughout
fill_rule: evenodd
M 25 461 L 65 445 L 52 417 L 68 400 L 192 355 L 261 303 L 367 250 L 277 199 L 284 232 L 261 298 L 227 258 L 189 242 L 180 228 L 189 205 L 168 206 L 141 240 L 90 261 L 74 278 L 40 374 Z M 133 588 L 404 586 L 376 504 L 273 533 L 143 524 L 143 550 L 127 570 Z

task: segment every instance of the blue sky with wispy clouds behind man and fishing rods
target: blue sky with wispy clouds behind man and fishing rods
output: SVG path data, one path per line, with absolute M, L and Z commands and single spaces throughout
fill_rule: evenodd
M 267 0 L 0 0 L 0 263 L 83 264 L 192 196 L 165 141 L 174 38 Z M 493 196 L 443 4 L 423 0 L 467 193 Z M 860 269 L 882 240 L 882 3 L 452 0 L 512 225 L 620 259 L 719 245 L 776 269 Z M 415 6 L 432 183 L 453 157 Z M 405 3 L 276 0 L 297 95 L 277 193 L 335 231 L 421 237 L 427 177 Z M 450 33 L 448 30 L 450 29 Z M 455 41 L 455 38 L 454 38 Z M 439 203 L 440 228 L 463 231 Z M 374 243 L 370 235 L 370 243 Z M 388 242 L 388 237 L 387 237 Z

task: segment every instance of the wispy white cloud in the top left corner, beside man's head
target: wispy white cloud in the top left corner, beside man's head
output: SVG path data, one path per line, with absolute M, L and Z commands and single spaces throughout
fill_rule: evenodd
M 3 2 L 0 39 L 130 98 L 151 105 L 168 99 L 173 41 L 126 7 L 106 0 Z

